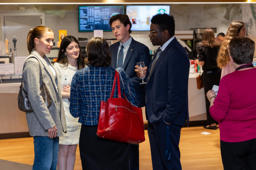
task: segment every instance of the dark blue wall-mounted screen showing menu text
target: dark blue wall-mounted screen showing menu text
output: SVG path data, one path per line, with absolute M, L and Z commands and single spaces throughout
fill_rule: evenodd
M 124 6 L 79 6 L 79 32 L 112 31 L 109 19 L 124 11 Z

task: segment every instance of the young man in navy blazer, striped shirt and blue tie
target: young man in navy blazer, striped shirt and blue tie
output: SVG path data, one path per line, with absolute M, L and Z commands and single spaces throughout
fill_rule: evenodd
M 151 56 L 149 49 L 144 44 L 135 41 L 131 36 L 131 21 L 126 14 L 117 14 L 110 18 L 109 24 L 113 35 L 119 42 L 110 45 L 111 67 L 124 68 L 138 96 L 138 107 L 145 106 L 145 85 L 140 85 L 142 80 L 134 72 L 137 62 L 144 62 L 149 66 Z M 139 145 L 129 144 L 130 170 L 139 170 Z

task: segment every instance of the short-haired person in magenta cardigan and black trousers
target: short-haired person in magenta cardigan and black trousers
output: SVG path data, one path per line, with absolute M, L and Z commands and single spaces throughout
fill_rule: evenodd
M 230 61 L 236 71 L 221 79 L 218 95 L 209 91 L 210 113 L 219 122 L 224 170 L 254 170 L 256 167 L 256 68 L 255 43 L 233 37 Z

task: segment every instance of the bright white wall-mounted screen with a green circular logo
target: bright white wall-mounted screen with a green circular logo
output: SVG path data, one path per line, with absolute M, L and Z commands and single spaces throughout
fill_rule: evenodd
M 170 6 L 126 6 L 131 20 L 131 31 L 149 31 L 155 14 L 170 14 Z

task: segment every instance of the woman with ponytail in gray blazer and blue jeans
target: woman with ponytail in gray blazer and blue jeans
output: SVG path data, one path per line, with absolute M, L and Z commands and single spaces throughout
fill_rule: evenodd
M 44 55 L 50 53 L 53 39 L 53 31 L 46 26 L 35 27 L 27 38 L 29 57 L 24 63 L 23 87 L 33 109 L 26 112 L 29 134 L 34 137 L 32 170 L 56 170 L 59 136 L 67 132 L 58 72 Z M 49 108 L 41 96 L 42 79 L 52 102 Z

